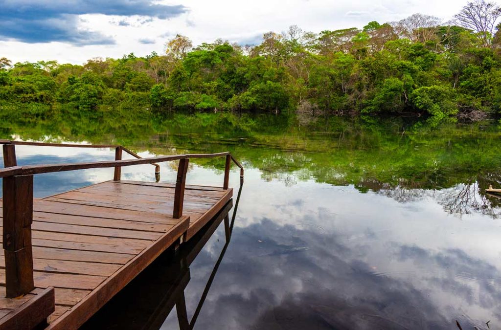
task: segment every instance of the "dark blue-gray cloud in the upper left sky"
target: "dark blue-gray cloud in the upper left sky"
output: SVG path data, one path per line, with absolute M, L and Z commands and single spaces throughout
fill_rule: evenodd
M 80 30 L 78 16 L 102 14 L 117 16 L 146 16 L 158 19 L 176 17 L 186 8 L 166 6 L 151 0 L 75 0 L 66 2 L 33 0 L 0 0 L 0 40 L 14 39 L 26 43 L 65 42 L 77 46 L 114 44 L 113 38 L 99 32 Z M 147 22 L 149 19 L 146 19 Z M 119 25 L 126 26 L 126 21 Z

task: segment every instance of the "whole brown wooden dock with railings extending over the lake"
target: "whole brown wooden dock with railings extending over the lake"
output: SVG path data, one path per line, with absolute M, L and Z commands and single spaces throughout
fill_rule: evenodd
M 76 329 L 171 246 L 186 242 L 231 199 L 229 153 L 17 166 L 4 144 L 0 330 Z M 57 146 L 68 146 L 49 144 Z M 70 145 L 71 147 L 81 147 Z M 89 146 L 84 146 L 89 147 Z M 226 158 L 222 187 L 186 185 L 190 158 Z M 176 182 L 123 181 L 122 166 L 179 160 Z M 33 175 L 114 167 L 113 181 L 33 198 Z M 5 264 L 5 267 L 1 265 Z

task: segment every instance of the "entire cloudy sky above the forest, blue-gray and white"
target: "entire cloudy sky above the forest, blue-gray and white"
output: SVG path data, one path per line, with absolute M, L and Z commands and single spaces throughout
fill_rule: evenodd
M 258 44 L 296 24 L 320 32 L 397 21 L 414 13 L 449 20 L 466 0 L 0 0 L 0 57 L 13 62 L 161 53 L 183 34 Z

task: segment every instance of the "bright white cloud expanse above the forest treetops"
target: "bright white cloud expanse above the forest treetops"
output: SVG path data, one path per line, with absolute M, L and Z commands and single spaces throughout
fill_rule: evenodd
M 13 62 L 55 59 L 61 63 L 82 64 L 94 57 L 120 58 L 131 52 L 137 56 L 153 51 L 161 53 L 168 37 L 160 36 L 183 34 L 191 38 L 194 45 L 217 38 L 245 44 L 258 41 L 264 32 L 280 32 L 293 24 L 304 31 L 320 32 L 361 28 L 369 21 L 396 21 L 414 13 L 434 15 L 447 21 L 465 3 L 457 0 L 291 0 L 287 3 L 270 0 L 186 0 L 182 5 L 187 11 L 167 20 L 132 16 L 124 21 L 123 16 L 80 15 L 82 21 L 79 28 L 82 31 L 110 36 L 115 45 L 79 47 L 63 42 L 26 44 L 9 40 L 0 41 L 0 57 L 7 57 Z M 162 4 L 178 5 L 172 1 Z M 148 43 L 141 43 L 144 40 Z

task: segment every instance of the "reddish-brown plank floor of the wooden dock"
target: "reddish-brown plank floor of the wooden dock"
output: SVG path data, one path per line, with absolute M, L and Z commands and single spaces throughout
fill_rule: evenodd
M 55 288 L 49 328 L 77 328 L 181 235 L 193 236 L 232 196 L 232 189 L 186 185 L 184 216 L 173 219 L 174 187 L 108 181 L 34 200 L 37 288 L 27 297 Z M 1 253 L 0 288 L 4 265 Z M 0 299 L 0 317 L 7 304 Z

